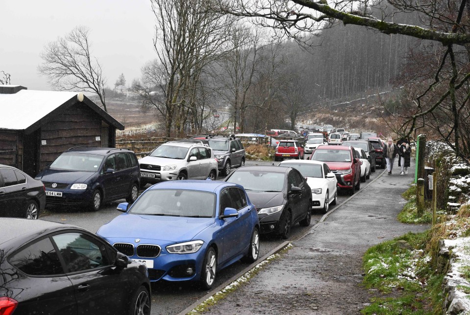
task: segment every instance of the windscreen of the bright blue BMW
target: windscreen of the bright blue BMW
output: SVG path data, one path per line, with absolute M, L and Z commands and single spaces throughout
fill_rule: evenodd
M 128 213 L 154 216 L 213 218 L 215 194 L 183 189 L 153 189 L 144 192 Z

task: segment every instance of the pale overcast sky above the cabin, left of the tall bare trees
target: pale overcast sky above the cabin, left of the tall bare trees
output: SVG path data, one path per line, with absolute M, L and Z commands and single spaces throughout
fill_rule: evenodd
M 39 54 L 77 25 L 90 28 L 92 54 L 110 88 L 121 73 L 129 85 L 156 57 L 150 0 L 1 0 L 0 22 L 0 70 L 28 90 L 51 90 L 38 74 Z

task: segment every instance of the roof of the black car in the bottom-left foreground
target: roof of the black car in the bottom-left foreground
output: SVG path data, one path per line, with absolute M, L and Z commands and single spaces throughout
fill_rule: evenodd
M 28 220 L 18 218 L 0 218 L 0 244 L 11 241 L 17 237 L 29 239 L 32 236 L 40 235 L 45 231 L 55 228 L 79 228 L 75 225 L 68 225 L 45 220 Z

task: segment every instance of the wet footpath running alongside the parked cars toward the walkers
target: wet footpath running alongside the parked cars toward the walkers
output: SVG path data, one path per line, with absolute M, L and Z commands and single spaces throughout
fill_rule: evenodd
M 360 286 L 364 252 L 408 231 L 428 228 L 396 220 L 405 203 L 401 193 L 414 178 L 413 172 L 399 174 L 395 165 L 393 175 L 385 172 L 356 193 L 207 314 L 358 314 L 378 294 Z

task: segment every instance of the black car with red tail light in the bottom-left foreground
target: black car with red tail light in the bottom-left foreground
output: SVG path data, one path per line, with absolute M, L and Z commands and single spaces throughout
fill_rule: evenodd
M 0 314 L 150 314 L 147 267 L 81 227 L 0 218 L 0 253 Z

